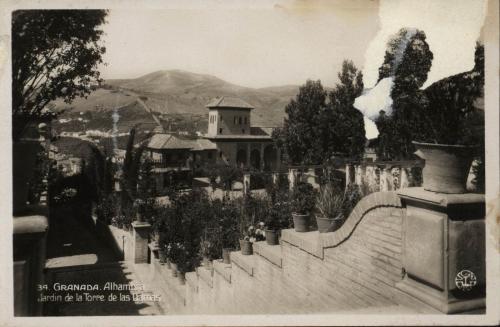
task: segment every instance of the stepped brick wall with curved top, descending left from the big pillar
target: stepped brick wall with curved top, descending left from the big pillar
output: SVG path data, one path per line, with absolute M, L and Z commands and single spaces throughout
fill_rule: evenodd
M 395 288 L 403 277 L 402 220 L 398 196 L 378 192 L 336 232 L 284 230 L 280 245 L 232 252 L 230 265 L 199 267 L 185 285 L 153 260 L 155 281 L 168 289 L 162 303 L 169 313 L 433 312 Z

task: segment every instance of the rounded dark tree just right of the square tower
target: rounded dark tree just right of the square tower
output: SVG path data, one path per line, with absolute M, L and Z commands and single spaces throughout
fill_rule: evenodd
M 318 129 L 320 112 L 325 109 L 327 92 L 320 81 L 308 80 L 286 106 L 283 128 L 273 133 L 289 163 L 319 164 L 323 161 L 321 132 Z

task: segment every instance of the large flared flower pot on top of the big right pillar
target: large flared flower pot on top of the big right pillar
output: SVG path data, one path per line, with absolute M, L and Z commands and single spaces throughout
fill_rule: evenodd
M 423 187 L 439 193 L 465 193 L 474 146 L 413 142 L 415 154 L 425 160 Z

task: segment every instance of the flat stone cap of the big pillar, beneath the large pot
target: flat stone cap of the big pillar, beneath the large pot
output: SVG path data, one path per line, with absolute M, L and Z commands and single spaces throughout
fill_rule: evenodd
M 479 193 L 463 193 L 463 194 L 446 194 L 436 193 L 424 190 L 423 187 L 410 187 L 402 189 L 398 195 L 403 199 L 412 199 L 428 202 L 441 207 L 447 207 L 457 204 L 473 204 L 484 203 L 484 194 Z

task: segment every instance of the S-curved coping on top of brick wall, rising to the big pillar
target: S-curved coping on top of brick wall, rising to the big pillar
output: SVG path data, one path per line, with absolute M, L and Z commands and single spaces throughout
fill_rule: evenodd
M 325 248 L 338 246 L 347 240 L 363 217 L 371 210 L 377 208 L 401 209 L 401 200 L 395 191 L 375 192 L 362 198 L 342 227 L 335 232 L 319 233 L 313 231 L 299 233 L 294 229 L 284 229 L 281 231 L 281 240 L 323 259 Z

